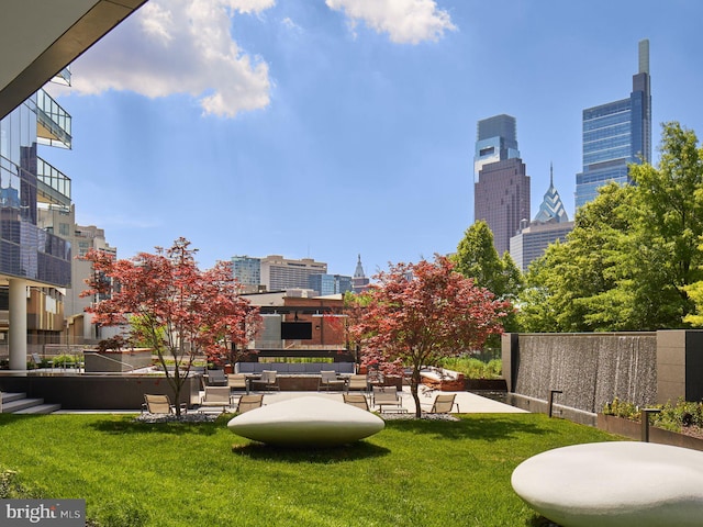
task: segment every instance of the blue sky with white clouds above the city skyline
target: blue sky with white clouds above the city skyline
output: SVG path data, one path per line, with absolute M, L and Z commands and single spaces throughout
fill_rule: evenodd
M 121 258 L 185 236 L 203 268 L 314 258 L 352 274 L 456 249 L 477 121 L 517 120 L 532 215 L 554 162 L 573 216 L 581 112 L 624 99 L 650 41 L 660 123 L 703 136 L 695 0 L 150 0 L 53 89 L 77 221 Z M 655 150 L 655 160 L 658 153 Z

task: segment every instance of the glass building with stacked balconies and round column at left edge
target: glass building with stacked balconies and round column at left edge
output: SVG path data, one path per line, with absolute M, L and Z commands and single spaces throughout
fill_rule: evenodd
M 43 89 L 0 120 L 0 287 L 5 291 L 0 298 L 8 302 L 0 305 L 8 313 L 0 333 L 10 333 L 4 341 L 14 370 L 26 369 L 27 335 L 35 343 L 59 341 L 64 328 L 56 288 L 70 285 L 71 247 L 38 225 L 38 209 L 70 204 L 70 179 L 44 161 L 37 147 L 70 148 L 70 115 Z M 27 317 L 30 290 L 48 300 L 49 311 Z M 60 324 L 53 322 L 57 317 Z

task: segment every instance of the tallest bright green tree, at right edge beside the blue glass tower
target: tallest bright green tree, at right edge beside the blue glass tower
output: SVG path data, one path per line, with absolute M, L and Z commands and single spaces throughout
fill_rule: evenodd
M 703 148 L 693 131 L 671 122 L 662 125 L 660 152 L 658 168 L 631 167 L 639 199 L 634 290 L 640 305 L 657 300 L 650 309 L 659 327 L 680 327 L 695 310 L 689 287 L 703 279 Z

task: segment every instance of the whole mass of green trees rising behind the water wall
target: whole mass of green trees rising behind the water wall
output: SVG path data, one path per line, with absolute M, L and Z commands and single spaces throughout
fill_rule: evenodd
M 577 212 L 563 244 L 531 266 L 520 298 L 526 332 L 685 327 L 702 280 L 703 154 L 693 132 L 663 125 L 658 168 L 632 165 Z M 695 293 L 694 293 L 695 294 Z

